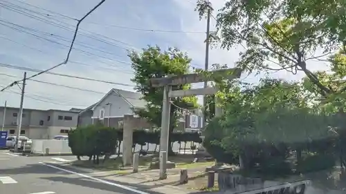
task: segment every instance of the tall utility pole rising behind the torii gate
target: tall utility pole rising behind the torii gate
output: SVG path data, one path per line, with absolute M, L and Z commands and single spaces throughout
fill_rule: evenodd
M 204 70 L 208 71 L 208 66 L 209 66 L 209 35 L 210 35 L 210 7 L 209 7 L 209 1 L 208 1 L 208 14 L 207 14 L 207 32 L 206 32 L 206 61 L 205 61 L 205 66 Z M 204 81 L 204 88 L 208 88 L 208 81 Z M 206 95 L 203 96 L 203 108 L 206 110 L 207 106 L 207 97 Z M 202 119 L 202 126 L 206 126 L 206 121 L 207 121 L 207 114 L 206 111 L 204 111 L 203 114 L 203 119 Z

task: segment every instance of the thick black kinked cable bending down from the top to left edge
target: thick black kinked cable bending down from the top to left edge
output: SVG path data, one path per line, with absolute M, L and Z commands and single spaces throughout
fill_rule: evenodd
M 89 14 L 91 14 L 91 12 L 93 12 L 93 11 L 96 10 L 99 6 L 101 6 L 102 3 L 104 3 L 104 1 L 105 1 L 105 0 L 100 1 L 100 3 L 98 3 L 94 8 L 92 8 L 89 12 L 87 12 L 87 13 L 84 15 L 84 17 L 82 17 L 82 19 L 78 20 L 77 26 L 75 27 L 75 33 L 74 33 L 74 35 L 73 35 L 73 39 L 72 39 L 72 42 L 71 42 L 71 46 L 70 46 L 70 48 L 69 48 L 69 52 L 67 52 L 66 59 L 65 59 L 62 63 L 57 64 L 56 66 L 53 66 L 53 67 L 48 68 L 48 69 L 46 69 L 46 70 L 43 70 L 43 71 L 41 71 L 41 72 L 38 72 L 37 74 L 32 75 L 32 76 L 30 76 L 30 77 L 28 77 L 28 78 L 26 78 L 26 79 L 31 79 L 31 78 L 33 78 L 33 77 L 36 77 L 36 76 L 41 75 L 41 74 L 43 74 L 43 73 L 45 73 L 45 72 L 48 72 L 48 71 L 50 71 L 50 70 L 53 70 L 54 68 L 57 68 L 57 67 L 59 67 L 59 66 L 62 66 L 62 65 L 64 65 L 64 64 L 66 64 L 67 61 L 69 61 L 69 57 L 70 57 L 70 54 L 71 54 L 71 50 L 72 50 L 72 47 L 73 47 L 73 43 L 75 42 L 75 38 L 77 37 L 77 32 L 78 32 L 78 28 L 79 28 L 79 26 L 80 26 L 80 23 L 81 23 L 86 17 L 88 17 Z M 24 81 L 24 79 L 22 79 L 21 81 Z M 17 82 L 18 82 L 18 81 L 13 82 L 12 84 L 10 84 L 10 85 L 6 86 L 5 88 L 3 88 L 1 91 L 6 90 L 7 88 L 13 86 L 13 84 L 16 84 Z

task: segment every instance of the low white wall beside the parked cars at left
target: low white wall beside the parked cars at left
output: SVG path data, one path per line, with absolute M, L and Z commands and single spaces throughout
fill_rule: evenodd
M 54 139 L 33 139 L 31 153 L 45 154 L 47 148 L 51 154 L 72 154 L 68 141 Z

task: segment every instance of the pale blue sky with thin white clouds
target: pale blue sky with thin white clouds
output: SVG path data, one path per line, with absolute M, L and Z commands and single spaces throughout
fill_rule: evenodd
M 24 71 L 45 70 L 66 58 L 76 21 L 100 0 L 0 0 L 0 87 L 21 79 Z M 211 0 L 217 10 L 226 1 Z M 206 19 L 199 20 L 194 0 L 105 1 L 80 24 L 69 63 L 28 80 L 24 108 L 86 108 L 99 101 L 111 88 L 133 90 L 127 50 L 140 51 L 147 45 L 162 49 L 177 47 L 192 58 L 192 66 L 204 68 Z M 215 19 L 211 19 L 215 30 Z M 244 50 L 212 48 L 209 64 L 233 67 Z M 313 62 L 312 70 L 325 64 Z M 311 65 L 311 64 L 308 64 Z M 9 68 L 10 67 L 10 68 Z M 300 79 L 302 75 L 275 72 L 271 77 Z M 242 75 L 257 82 L 260 77 Z M 95 81 L 98 80 L 98 81 Z M 59 85 L 59 86 L 57 86 Z M 194 87 L 201 87 L 197 84 Z M 19 86 L 0 92 L 0 106 L 19 107 Z

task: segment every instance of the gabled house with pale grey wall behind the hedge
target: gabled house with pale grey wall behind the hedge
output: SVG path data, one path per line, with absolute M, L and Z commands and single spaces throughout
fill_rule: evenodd
M 113 88 L 100 101 L 80 112 L 78 126 L 102 122 L 105 126 L 121 127 L 124 115 L 134 115 L 134 108 L 145 108 L 147 102 L 141 97 L 139 93 Z M 201 121 L 197 115 L 185 115 L 177 130 L 199 130 Z M 136 126 L 151 128 L 144 119 L 138 122 Z

